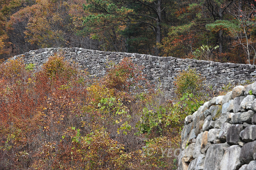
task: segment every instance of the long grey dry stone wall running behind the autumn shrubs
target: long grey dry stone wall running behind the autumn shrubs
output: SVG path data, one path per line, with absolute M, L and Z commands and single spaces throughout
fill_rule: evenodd
M 108 62 L 118 64 L 124 57 L 132 58 L 133 62 L 144 66 L 143 74 L 156 88 L 162 88 L 166 97 L 173 95 L 173 81 L 177 73 L 183 69 L 195 68 L 206 78 L 206 85 L 211 85 L 213 90 L 220 90 L 228 83 L 244 83 L 247 80 L 254 81 L 256 78 L 255 65 L 218 63 L 212 61 L 181 59 L 174 57 L 156 57 L 151 55 L 105 52 L 97 50 L 86 50 L 82 48 L 45 48 L 29 51 L 23 56 L 25 63 L 33 63 L 37 69 L 45 63 L 48 58 L 56 53 L 63 54 L 67 60 L 76 62 L 81 69 L 87 69 L 91 76 L 102 76 L 106 74 Z M 14 58 L 19 57 L 14 56 Z

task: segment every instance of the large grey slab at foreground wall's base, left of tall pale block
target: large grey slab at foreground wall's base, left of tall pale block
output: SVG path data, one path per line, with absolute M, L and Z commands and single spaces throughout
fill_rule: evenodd
M 212 144 L 205 155 L 204 170 L 219 170 L 225 152 L 224 149 L 229 146 L 228 143 Z

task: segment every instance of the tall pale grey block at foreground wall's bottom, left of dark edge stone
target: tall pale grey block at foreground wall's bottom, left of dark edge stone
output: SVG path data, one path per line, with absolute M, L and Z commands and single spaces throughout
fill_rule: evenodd
M 225 148 L 225 153 L 220 162 L 220 170 L 237 170 L 242 162 L 240 161 L 241 146 L 232 145 Z

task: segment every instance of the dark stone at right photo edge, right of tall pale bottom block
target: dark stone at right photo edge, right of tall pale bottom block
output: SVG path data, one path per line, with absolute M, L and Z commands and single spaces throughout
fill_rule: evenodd
M 253 160 L 254 153 L 256 153 L 256 141 L 245 143 L 241 150 L 240 160 L 248 164 Z

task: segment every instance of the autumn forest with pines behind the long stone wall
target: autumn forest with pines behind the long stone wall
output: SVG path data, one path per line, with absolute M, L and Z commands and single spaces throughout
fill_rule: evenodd
M 254 64 L 255 1 L 1 0 L 0 55 L 82 47 Z

